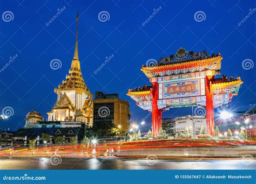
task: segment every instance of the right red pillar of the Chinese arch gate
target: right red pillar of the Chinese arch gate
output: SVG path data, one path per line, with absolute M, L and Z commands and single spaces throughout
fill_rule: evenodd
M 212 76 L 205 77 L 205 90 L 206 90 L 206 125 L 207 134 L 214 136 L 214 111 L 213 111 L 213 99 L 210 93 L 210 82 Z

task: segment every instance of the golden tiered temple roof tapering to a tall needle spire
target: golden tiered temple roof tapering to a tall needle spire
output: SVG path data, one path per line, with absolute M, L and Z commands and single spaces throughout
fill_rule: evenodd
M 63 90 L 76 90 L 79 92 L 84 92 L 87 95 L 91 95 L 90 90 L 87 89 L 87 86 L 84 82 L 82 72 L 80 69 L 80 61 L 78 58 L 78 20 L 79 16 L 77 13 L 77 30 L 76 30 L 76 44 L 75 44 L 75 52 L 74 57 L 71 63 L 71 68 L 69 70 L 69 74 L 66 75 L 66 79 L 62 81 L 62 84 L 59 84 L 58 88 L 55 88 L 55 93 Z

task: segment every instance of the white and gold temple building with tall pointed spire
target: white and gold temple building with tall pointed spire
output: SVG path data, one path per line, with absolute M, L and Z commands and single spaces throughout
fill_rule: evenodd
M 77 14 L 76 45 L 71 68 L 66 79 L 55 88 L 57 101 L 47 114 L 48 121 L 84 122 L 92 126 L 92 94 L 84 82 L 78 59 L 78 20 Z

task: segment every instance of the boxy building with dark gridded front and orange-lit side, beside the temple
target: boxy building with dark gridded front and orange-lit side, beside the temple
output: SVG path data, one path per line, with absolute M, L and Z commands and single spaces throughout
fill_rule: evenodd
M 129 130 L 130 107 L 118 94 L 104 94 L 96 91 L 93 100 L 93 123 L 114 123 L 122 132 Z

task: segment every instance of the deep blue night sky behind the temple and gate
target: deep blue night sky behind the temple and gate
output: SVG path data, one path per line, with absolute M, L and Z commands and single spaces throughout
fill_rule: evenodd
M 65 8 L 64 8 L 65 6 Z M 159 8 L 161 6 L 161 8 Z M 58 10 L 64 9 L 53 18 Z M 160 9 L 148 23 L 154 9 Z M 79 11 L 78 52 L 83 77 L 91 93 L 118 93 L 130 103 L 132 120 L 140 122 L 148 114 L 126 95 L 129 88 L 150 85 L 140 71 L 149 59 L 188 51 L 221 53 L 221 73 L 241 76 L 244 81 L 230 107 L 246 111 L 255 103 L 255 1 L 0 1 L 0 110 L 14 109 L 4 129 L 17 130 L 31 111 L 46 112 L 56 102 L 53 89 L 68 74 L 73 59 L 76 13 Z M 250 10 L 251 9 L 251 10 Z M 109 13 L 101 22 L 98 14 Z M 194 14 L 203 11 L 201 22 Z M 252 12 L 250 17 L 245 18 Z M 8 12 L 7 12 L 8 13 Z M 53 18 L 50 24 L 49 20 Z M 240 23 L 245 19 L 244 23 Z M 8 67 L 10 57 L 16 59 Z M 113 56 L 95 74 L 106 56 Z M 62 67 L 53 70 L 50 62 L 58 59 Z M 242 61 L 252 65 L 242 67 Z M 166 111 L 164 118 L 191 114 L 191 108 Z M 151 120 L 151 117 L 149 118 Z M 144 126 L 149 129 L 151 123 Z

